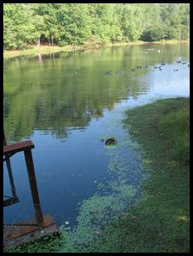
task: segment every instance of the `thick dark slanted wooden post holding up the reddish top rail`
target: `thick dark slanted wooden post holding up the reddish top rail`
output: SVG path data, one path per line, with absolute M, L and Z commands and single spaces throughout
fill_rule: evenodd
M 37 185 L 36 185 L 36 175 L 34 171 L 31 149 L 24 150 L 24 155 L 26 159 L 27 172 L 28 172 L 28 177 L 30 181 L 31 194 L 32 194 L 33 205 L 34 205 L 35 214 L 36 214 L 36 222 L 37 224 L 41 225 L 43 224 L 43 215 L 41 212 L 41 203 L 40 203 L 39 194 L 38 194 Z

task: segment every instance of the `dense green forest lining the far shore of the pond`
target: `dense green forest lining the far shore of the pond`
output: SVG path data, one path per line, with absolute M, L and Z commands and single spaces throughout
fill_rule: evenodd
M 186 40 L 189 3 L 4 3 L 3 48 Z

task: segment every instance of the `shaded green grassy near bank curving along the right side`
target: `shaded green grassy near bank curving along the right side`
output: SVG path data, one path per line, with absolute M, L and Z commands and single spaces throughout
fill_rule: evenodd
M 124 126 L 142 149 L 151 172 L 138 204 L 114 219 L 99 239 L 74 252 L 188 253 L 189 252 L 189 123 L 190 99 L 156 101 L 126 112 Z M 51 252 L 58 240 L 17 248 L 15 252 Z M 65 247 L 65 242 L 63 240 Z

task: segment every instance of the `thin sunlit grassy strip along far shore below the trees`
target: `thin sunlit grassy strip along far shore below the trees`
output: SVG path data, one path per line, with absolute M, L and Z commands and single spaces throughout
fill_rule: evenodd
M 83 46 L 79 47 L 72 47 L 72 46 L 65 46 L 65 47 L 58 47 L 58 46 L 41 46 L 41 47 L 36 47 L 36 46 L 31 46 L 28 49 L 25 50 L 14 50 L 14 51 L 4 51 L 3 52 L 3 57 L 8 58 L 8 57 L 19 57 L 19 56 L 36 56 L 38 54 L 48 54 L 48 53 L 54 53 L 54 52 L 73 52 L 73 51 L 78 51 L 78 50 L 89 50 L 89 49 L 94 49 L 94 48 L 99 48 L 102 46 L 105 47 L 112 47 L 112 46 L 127 46 L 127 45 L 140 45 L 140 44 L 147 44 L 147 43 L 160 43 L 160 44 L 174 44 L 174 43 L 180 43 L 180 42 L 189 42 L 189 41 L 177 41 L 177 40 L 162 40 L 159 42 L 120 42 L 120 43 L 108 43 L 105 45 L 101 45 L 99 43 L 85 43 Z

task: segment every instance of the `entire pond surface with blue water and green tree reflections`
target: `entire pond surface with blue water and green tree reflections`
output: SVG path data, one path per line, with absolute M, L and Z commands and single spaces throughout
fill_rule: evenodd
M 106 221 L 140 198 L 147 174 L 138 145 L 123 129 L 124 111 L 189 96 L 189 47 L 147 44 L 4 59 L 7 144 L 34 142 L 41 207 L 56 224 L 87 225 L 86 209 L 103 209 L 100 217 Z M 186 64 L 176 62 L 181 59 Z M 162 70 L 154 67 L 161 63 Z M 112 136 L 117 144 L 105 146 L 104 139 Z M 4 223 L 34 216 L 23 154 L 13 155 L 11 163 L 20 202 L 4 208 Z M 3 192 L 10 195 L 3 168 Z

